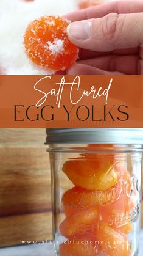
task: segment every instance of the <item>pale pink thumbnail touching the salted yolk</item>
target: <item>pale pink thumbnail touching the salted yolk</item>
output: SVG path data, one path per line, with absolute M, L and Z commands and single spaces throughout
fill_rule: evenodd
M 91 21 L 78 21 L 69 24 L 67 32 L 69 37 L 76 40 L 85 40 L 91 36 Z

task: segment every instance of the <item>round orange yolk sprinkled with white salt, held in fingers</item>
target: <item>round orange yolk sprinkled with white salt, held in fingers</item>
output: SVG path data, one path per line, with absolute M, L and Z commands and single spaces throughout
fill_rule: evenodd
M 24 47 L 32 62 L 60 71 L 77 60 L 78 47 L 69 41 L 66 28 L 70 21 L 59 16 L 43 16 L 32 21 L 24 34 Z

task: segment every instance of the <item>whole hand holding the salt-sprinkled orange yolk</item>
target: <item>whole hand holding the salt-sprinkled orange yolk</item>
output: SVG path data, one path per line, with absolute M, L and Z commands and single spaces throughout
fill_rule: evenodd
M 68 75 L 143 74 L 143 1 L 109 2 L 65 15 L 80 47 Z

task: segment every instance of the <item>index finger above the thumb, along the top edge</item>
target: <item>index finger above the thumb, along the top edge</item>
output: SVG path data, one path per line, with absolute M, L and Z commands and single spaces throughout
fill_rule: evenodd
M 65 18 L 71 21 L 87 20 L 91 18 L 102 18 L 108 13 L 135 13 L 143 12 L 143 1 L 114 1 L 106 4 L 97 5 L 88 9 L 78 10 L 68 13 Z

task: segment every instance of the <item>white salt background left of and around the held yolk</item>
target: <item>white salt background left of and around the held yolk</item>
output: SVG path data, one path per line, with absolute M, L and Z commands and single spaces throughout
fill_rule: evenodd
M 43 15 L 63 15 L 77 9 L 77 0 L 1 0 L 0 73 L 44 75 L 51 72 L 33 67 L 24 53 L 23 34 L 30 21 Z

